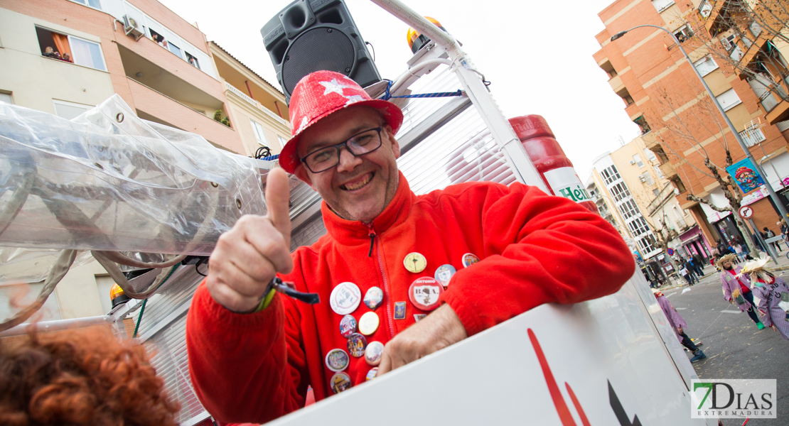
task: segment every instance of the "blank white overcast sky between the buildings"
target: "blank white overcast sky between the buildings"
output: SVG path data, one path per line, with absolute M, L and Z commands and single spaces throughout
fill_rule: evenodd
M 279 87 L 260 28 L 292 0 L 159 0 Z M 638 135 L 593 60 L 594 36 L 604 29 L 597 13 L 612 0 L 470 1 L 405 0 L 434 17 L 472 58 L 506 117 L 540 114 L 584 182 L 595 157 Z M 412 56 L 408 26 L 368 0 L 346 0 L 361 36 L 372 43 L 381 76 L 394 80 Z M 460 88 L 460 87 L 458 87 Z

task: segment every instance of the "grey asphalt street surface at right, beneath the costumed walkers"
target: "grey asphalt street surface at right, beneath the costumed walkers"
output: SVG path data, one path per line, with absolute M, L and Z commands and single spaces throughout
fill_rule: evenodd
M 781 253 L 778 268 L 789 280 L 787 251 Z M 724 300 L 720 272 L 713 266 L 705 276 L 689 287 L 666 286 L 660 289 L 688 326 L 686 334 L 701 339 L 707 358 L 694 363 L 701 379 L 776 379 L 778 400 L 776 419 L 751 419 L 748 426 L 786 426 L 789 424 L 789 341 L 771 328 L 759 330 L 746 313 Z M 686 352 L 688 357 L 690 353 Z M 723 419 L 724 426 L 739 426 L 743 420 Z

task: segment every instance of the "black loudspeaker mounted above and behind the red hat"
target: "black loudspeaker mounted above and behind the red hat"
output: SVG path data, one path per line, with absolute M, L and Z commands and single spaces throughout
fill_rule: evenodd
M 260 29 L 277 80 L 290 104 L 301 77 L 326 69 L 361 87 L 381 76 L 342 0 L 296 0 Z

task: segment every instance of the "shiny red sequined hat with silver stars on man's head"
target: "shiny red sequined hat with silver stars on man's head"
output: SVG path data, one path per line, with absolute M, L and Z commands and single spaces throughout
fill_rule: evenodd
M 296 144 L 301 132 L 323 117 L 352 105 L 377 109 L 391 126 L 392 132 L 396 133 L 402 124 L 402 111 L 398 106 L 370 98 L 365 89 L 339 72 L 316 71 L 304 76 L 290 98 L 290 124 L 293 132 L 279 153 L 279 165 L 282 169 L 293 173 L 301 164 L 296 154 Z

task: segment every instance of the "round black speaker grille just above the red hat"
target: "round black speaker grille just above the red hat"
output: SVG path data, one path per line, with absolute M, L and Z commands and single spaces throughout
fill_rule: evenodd
M 353 43 L 348 36 L 335 28 L 312 28 L 290 45 L 282 63 L 282 86 L 290 95 L 310 72 L 326 69 L 347 76 L 352 68 Z

